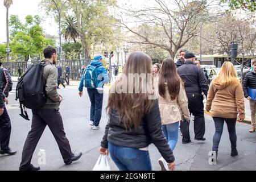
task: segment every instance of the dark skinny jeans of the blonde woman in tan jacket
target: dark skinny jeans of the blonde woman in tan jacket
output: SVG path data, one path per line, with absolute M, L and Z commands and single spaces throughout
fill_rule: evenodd
M 237 134 L 236 134 L 236 122 L 237 118 L 228 119 L 228 118 L 218 118 L 212 117 L 215 125 L 215 134 L 213 135 L 213 151 L 218 151 L 218 144 L 220 143 L 224 121 L 226 121 L 226 125 L 228 126 L 229 131 L 229 140 L 231 142 L 232 150 L 236 150 L 237 148 Z

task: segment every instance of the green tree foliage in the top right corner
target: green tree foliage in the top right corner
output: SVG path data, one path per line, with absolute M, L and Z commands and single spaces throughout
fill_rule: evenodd
M 229 7 L 232 10 L 243 9 L 251 12 L 256 11 L 255 0 L 221 0 L 220 3 L 229 3 Z

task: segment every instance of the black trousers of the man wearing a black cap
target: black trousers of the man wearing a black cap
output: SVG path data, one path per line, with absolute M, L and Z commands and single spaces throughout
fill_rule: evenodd
M 205 133 L 205 121 L 204 121 L 204 96 L 199 93 L 187 93 L 188 97 L 188 109 L 189 112 L 195 116 L 194 120 L 194 132 L 195 138 L 201 139 Z M 180 122 L 180 131 L 183 135 L 182 142 L 188 142 L 190 140 L 189 135 L 189 122 Z

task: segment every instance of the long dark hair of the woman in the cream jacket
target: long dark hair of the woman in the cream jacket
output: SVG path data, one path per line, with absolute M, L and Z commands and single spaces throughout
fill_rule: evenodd
M 175 100 L 180 92 L 180 82 L 182 82 L 182 80 L 177 74 L 174 60 L 171 58 L 164 59 L 159 71 L 159 95 L 166 98 L 167 86 L 171 100 Z

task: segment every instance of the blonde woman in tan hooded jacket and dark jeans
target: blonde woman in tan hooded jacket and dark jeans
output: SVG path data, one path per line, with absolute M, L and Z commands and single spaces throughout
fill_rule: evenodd
M 228 126 L 231 156 L 238 155 L 236 121 L 238 114 L 240 121 L 245 119 L 245 103 L 242 85 L 237 78 L 236 69 L 234 69 L 234 65 L 230 61 L 226 61 L 222 65 L 220 73 L 210 84 L 205 109 L 207 111 L 211 110 L 215 125 L 212 160 L 217 162 L 218 144 L 220 143 L 224 121 Z M 216 155 L 214 155 L 215 152 Z

